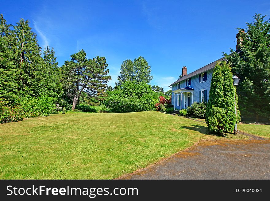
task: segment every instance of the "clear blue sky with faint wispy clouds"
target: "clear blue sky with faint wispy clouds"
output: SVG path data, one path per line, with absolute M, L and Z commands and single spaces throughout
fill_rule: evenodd
M 83 49 L 105 56 L 114 86 L 125 59 L 143 56 L 157 84 L 168 90 L 183 66 L 187 73 L 235 49 L 235 28 L 255 13 L 270 14 L 268 1 L 3 1 L 9 24 L 29 19 L 39 45 L 54 47 L 59 65 Z M 16 5 L 16 6 L 15 6 Z

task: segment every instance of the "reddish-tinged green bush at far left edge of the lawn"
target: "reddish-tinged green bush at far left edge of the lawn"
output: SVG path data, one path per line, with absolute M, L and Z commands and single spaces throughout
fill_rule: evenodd
M 10 106 L 5 106 L 4 102 L 0 101 L 0 123 L 22 120 L 23 117 L 19 108 L 11 108 Z

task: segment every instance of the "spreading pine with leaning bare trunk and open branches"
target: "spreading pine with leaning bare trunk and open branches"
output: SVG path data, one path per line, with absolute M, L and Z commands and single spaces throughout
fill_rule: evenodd
M 107 76 L 105 57 L 95 57 L 87 60 L 84 50 L 71 55 L 71 61 L 65 61 L 62 66 L 63 83 L 67 95 L 73 100 L 72 110 L 79 100 L 82 92 L 85 92 L 89 97 L 100 97 L 107 87 L 107 82 L 111 80 Z

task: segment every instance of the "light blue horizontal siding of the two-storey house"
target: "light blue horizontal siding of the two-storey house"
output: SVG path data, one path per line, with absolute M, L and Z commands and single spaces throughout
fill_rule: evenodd
M 199 97 L 200 97 L 200 91 L 206 90 L 206 101 L 209 100 L 209 91 L 210 91 L 210 85 L 211 85 L 211 79 L 212 79 L 212 74 L 213 74 L 214 69 L 210 69 L 208 71 L 205 71 L 207 73 L 207 80 L 204 82 L 199 82 L 199 74 L 194 75 L 191 78 L 191 85 L 189 87 L 193 88 L 194 91 L 192 92 L 193 94 L 193 102 L 200 102 Z M 204 73 L 204 72 L 202 72 Z M 184 77 L 183 77 L 184 78 Z M 180 88 L 186 87 L 186 80 L 180 81 Z M 172 85 L 172 105 L 175 106 L 175 110 L 180 110 L 180 105 L 177 106 L 176 102 L 176 95 L 174 94 L 173 91 L 176 90 L 176 84 Z M 192 102 L 192 94 L 190 94 L 190 105 L 193 103 Z M 180 95 L 179 95 L 180 99 Z M 187 92 L 182 93 L 182 109 L 187 108 Z

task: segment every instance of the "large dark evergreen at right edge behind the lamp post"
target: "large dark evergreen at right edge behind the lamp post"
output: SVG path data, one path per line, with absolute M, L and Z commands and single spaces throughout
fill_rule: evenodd
M 241 51 L 225 54 L 232 71 L 240 77 L 237 86 L 239 108 L 244 117 L 255 114 L 270 118 L 270 20 L 256 14 L 252 23 L 246 23 L 245 32 L 239 29 Z

